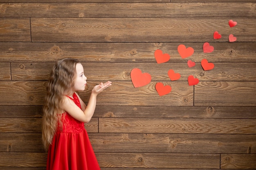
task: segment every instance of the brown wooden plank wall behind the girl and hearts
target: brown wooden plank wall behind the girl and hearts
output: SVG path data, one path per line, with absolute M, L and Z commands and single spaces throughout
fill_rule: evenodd
M 182 59 L 180 44 L 193 55 Z M 170 60 L 157 64 L 157 49 Z M 85 124 L 102 170 L 256 169 L 255 0 L 0 0 L 0 170 L 45 170 L 45 83 L 65 57 L 83 63 L 85 102 L 112 81 Z M 204 71 L 203 58 L 215 67 Z M 152 81 L 134 88 L 133 68 Z M 171 93 L 159 96 L 157 82 Z

